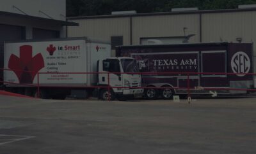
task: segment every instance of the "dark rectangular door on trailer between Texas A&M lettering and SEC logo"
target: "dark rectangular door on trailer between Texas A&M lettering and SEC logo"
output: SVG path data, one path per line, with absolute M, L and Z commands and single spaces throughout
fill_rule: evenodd
M 227 78 L 227 51 L 201 52 L 200 85 L 202 87 L 229 87 Z

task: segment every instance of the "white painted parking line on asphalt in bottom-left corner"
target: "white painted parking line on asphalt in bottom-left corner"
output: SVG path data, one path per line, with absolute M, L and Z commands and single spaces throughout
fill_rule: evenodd
M 1 137 L 4 139 L 1 139 Z M 13 135 L 0 134 L 0 146 L 8 143 L 31 139 L 33 137 L 35 136 L 13 136 Z

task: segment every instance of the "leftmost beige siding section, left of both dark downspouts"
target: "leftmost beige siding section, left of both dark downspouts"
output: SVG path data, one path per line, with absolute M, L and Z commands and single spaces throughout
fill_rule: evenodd
M 72 20 L 79 27 L 68 27 L 68 37 L 88 37 L 111 41 L 111 36 L 124 36 L 124 45 L 130 45 L 130 18 L 95 18 Z

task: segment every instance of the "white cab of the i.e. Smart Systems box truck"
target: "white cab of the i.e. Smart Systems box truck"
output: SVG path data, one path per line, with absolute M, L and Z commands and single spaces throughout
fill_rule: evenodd
M 125 101 L 142 95 L 138 62 L 129 57 L 111 57 L 98 61 L 99 99 Z

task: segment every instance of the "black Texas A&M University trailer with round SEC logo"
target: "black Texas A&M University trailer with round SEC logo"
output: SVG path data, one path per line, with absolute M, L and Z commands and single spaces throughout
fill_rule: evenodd
M 252 43 L 116 46 L 116 56 L 138 60 L 145 96 L 152 99 L 211 90 L 244 94 L 253 87 L 253 75 L 233 73 L 253 73 L 252 51 Z

